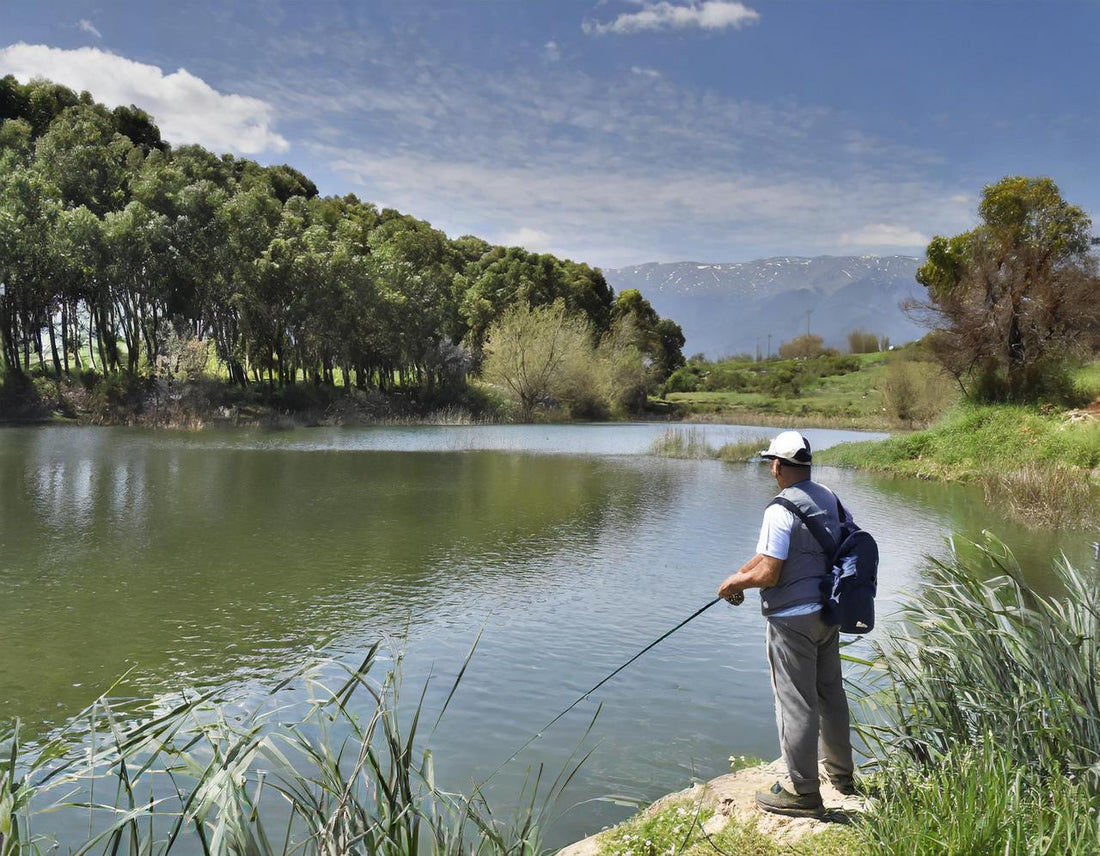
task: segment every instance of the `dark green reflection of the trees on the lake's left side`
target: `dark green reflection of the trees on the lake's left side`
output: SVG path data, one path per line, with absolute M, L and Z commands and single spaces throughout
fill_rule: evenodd
M 0 592 L 18 644 L 0 645 L 0 717 L 32 726 L 131 666 L 143 692 L 246 678 L 551 584 L 676 484 L 593 458 L 9 438 Z

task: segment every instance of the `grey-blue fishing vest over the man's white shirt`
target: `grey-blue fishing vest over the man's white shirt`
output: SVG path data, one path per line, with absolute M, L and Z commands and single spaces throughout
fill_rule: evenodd
M 826 486 L 809 479 L 780 491 L 780 496 L 790 500 L 807 517 L 821 517 L 834 538 L 840 534 L 840 518 L 836 511 L 836 496 Z M 783 562 L 779 582 L 760 591 L 760 611 L 772 615 L 788 606 L 804 603 L 821 603 L 822 583 L 825 581 L 825 551 L 802 520 L 795 517 L 791 529 L 791 549 Z

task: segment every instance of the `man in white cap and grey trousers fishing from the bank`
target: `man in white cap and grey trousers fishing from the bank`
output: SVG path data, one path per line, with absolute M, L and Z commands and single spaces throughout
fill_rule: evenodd
M 794 503 L 806 517 L 821 519 L 837 538 L 840 511 L 833 492 L 810 478 L 810 441 L 798 431 L 783 431 L 760 454 L 771 461 L 779 496 Z M 765 509 L 756 556 L 718 588 L 721 597 L 735 603 L 746 589 L 761 590 L 776 722 L 794 789 L 791 793 L 777 782 L 771 790 L 757 793 L 757 805 L 776 814 L 823 813 L 818 737 L 834 787 L 844 794 L 856 792 L 839 628 L 822 618 L 827 570 L 825 551 L 807 526 L 788 508 L 773 504 Z

